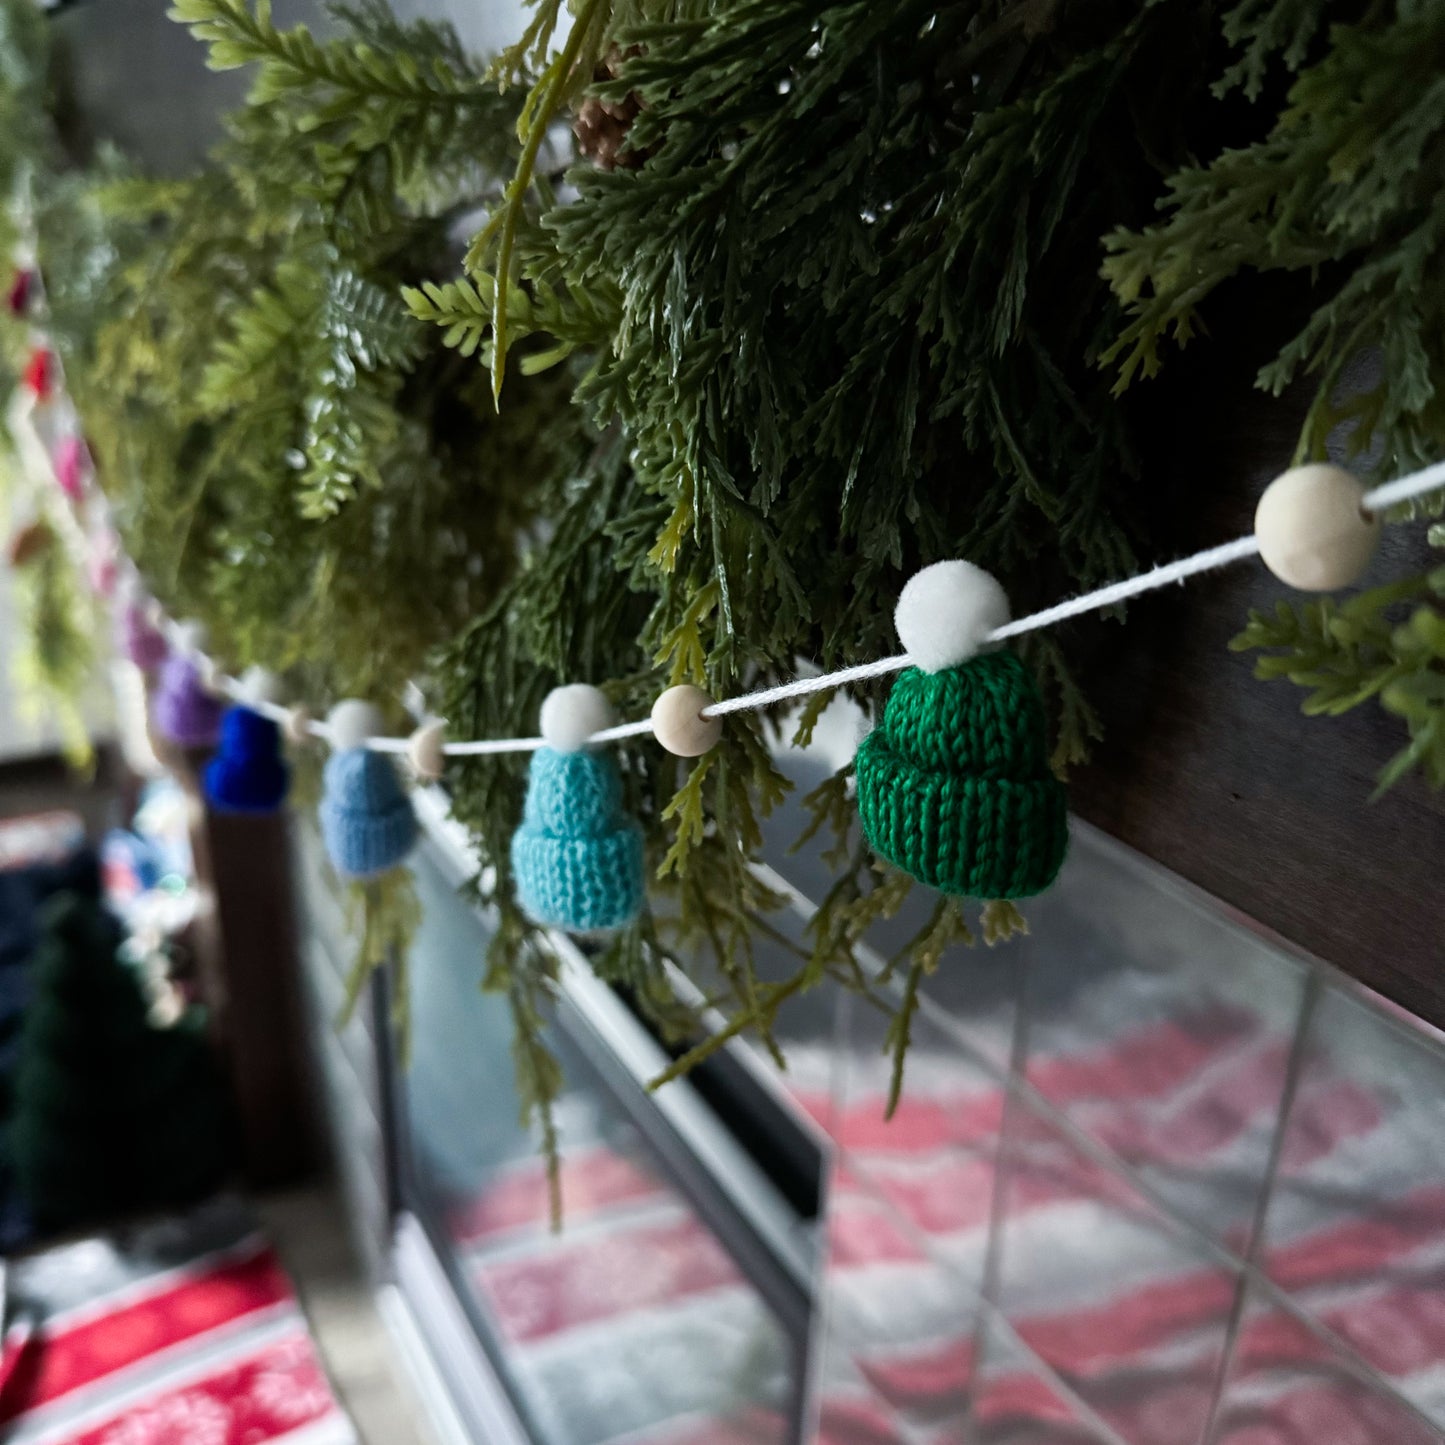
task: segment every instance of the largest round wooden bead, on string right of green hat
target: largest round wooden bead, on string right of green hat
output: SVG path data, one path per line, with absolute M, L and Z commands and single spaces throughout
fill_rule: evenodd
M 1380 519 L 1363 500 L 1364 487 L 1342 467 L 1292 467 L 1264 488 L 1254 512 L 1260 559 L 1302 592 L 1360 581 L 1380 540 Z

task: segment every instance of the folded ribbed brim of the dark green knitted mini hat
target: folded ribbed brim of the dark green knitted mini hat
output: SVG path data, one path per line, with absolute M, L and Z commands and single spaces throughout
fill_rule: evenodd
M 858 816 L 881 858 L 971 899 L 1042 893 L 1068 850 L 1064 785 L 1043 777 L 929 772 L 900 757 L 883 730 L 858 749 Z

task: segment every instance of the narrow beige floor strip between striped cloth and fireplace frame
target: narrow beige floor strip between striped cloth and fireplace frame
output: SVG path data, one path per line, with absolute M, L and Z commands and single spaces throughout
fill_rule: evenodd
M 363 1445 L 438 1445 L 363 1279 L 335 1194 L 308 1188 L 257 1205 Z

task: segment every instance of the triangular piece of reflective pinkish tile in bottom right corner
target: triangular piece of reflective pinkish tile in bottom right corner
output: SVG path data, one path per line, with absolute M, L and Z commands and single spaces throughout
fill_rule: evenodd
M 1439 1435 L 1251 1287 L 1212 1445 L 1428 1445 Z

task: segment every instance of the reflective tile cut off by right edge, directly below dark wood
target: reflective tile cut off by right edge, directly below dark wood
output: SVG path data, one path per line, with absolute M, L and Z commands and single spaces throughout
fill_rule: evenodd
M 1327 988 L 1270 1198 L 1263 1263 L 1445 1428 L 1445 1052 Z

